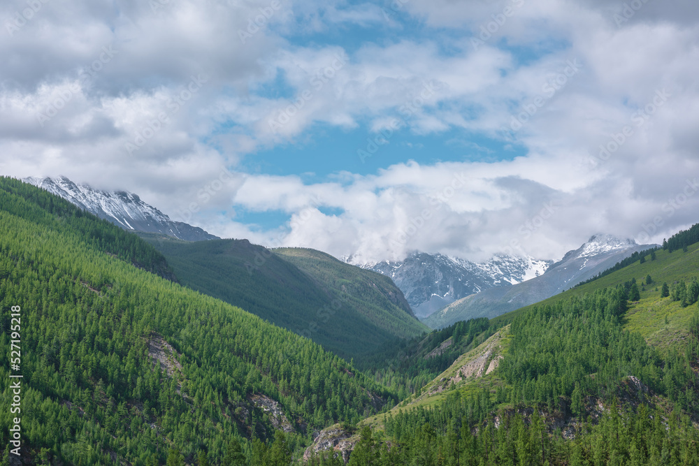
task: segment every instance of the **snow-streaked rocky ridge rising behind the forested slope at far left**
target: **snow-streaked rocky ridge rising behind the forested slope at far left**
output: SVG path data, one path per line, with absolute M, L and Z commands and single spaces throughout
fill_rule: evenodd
M 87 184 L 75 184 L 66 177 L 28 177 L 22 181 L 61 196 L 124 230 L 162 233 L 186 241 L 219 239 L 196 226 L 172 221 L 166 214 L 127 191 L 99 191 Z

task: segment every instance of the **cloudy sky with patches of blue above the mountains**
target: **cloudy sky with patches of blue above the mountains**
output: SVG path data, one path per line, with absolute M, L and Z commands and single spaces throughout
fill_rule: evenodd
M 5 0 L 0 173 L 360 261 L 699 221 L 696 0 Z

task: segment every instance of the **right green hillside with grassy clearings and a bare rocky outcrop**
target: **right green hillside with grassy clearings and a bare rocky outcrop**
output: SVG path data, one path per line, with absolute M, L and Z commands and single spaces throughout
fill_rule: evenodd
M 352 455 L 428 466 L 699 464 L 699 245 L 671 240 L 685 251 L 656 251 L 492 319 L 420 391 L 347 432 Z M 431 335 L 440 347 L 466 339 Z

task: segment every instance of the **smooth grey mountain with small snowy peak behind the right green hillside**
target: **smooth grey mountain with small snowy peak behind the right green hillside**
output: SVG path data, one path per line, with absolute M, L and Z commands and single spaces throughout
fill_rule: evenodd
M 634 240 L 613 235 L 593 235 L 584 245 L 552 264 L 542 275 L 518 284 L 494 286 L 482 293 L 466 296 L 434 312 L 424 319 L 424 323 L 432 328 L 442 328 L 475 317 L 492 318 L 538 303 L 591 279 L 634 252 L 651 247 L 657 245 L 638 245 Z

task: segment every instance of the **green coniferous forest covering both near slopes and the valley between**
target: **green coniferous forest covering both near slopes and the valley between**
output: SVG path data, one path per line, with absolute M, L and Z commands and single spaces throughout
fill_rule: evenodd
M 693 230 L 668 241 L 687 252 L 654 250 L 523 312 L 384 342 L 355 367 L 187 289 L 138 236 L 41 189 L 2 178 L 0 206 L 0 348 L 22 349 L 19 370 L 3 359 L 0 391 L 9 406 L 9 376 L 22 374 L 25 463 L 699 464 Z M 689 272 L 668 284 L 655 264 Z M 635 267 L 649 272 L 614 284 Z M 630 328 L 646 300 L 666 309 L 658 325 L 684 319 L 684 332 L 651 344 Z M 454 376 L 493 342 L 492 370 Z M 15 414 L 2 416 L 10 464 Z M 323 432 L 348 451 L 314 448 Z

